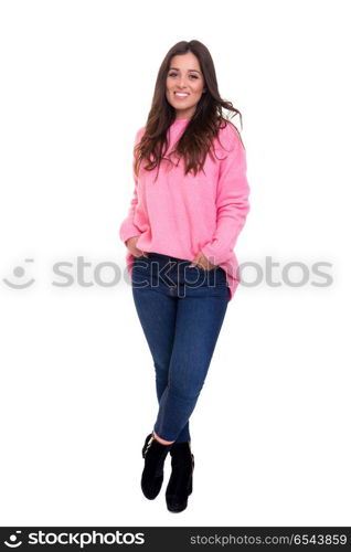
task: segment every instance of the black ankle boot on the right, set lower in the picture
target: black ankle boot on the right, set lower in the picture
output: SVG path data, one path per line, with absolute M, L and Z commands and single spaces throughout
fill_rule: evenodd
M 185 510 L 188 497 L 192 492 L 192 473 L 195 463 L 190 442 L 173 443 L 170 455 L 172 474 L 166 489 L 166 502 L 171 512 L 181 512 Z

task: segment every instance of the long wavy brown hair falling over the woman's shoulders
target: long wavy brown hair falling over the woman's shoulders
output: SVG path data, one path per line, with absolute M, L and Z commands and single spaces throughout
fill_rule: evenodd
M 243 128 L 241 112 L 231 102 L 224 100 L 220 96 L 213 60 L 206 46 L 198 40 L 178 42 L 167 53 L 157 75 L 145 132 L 134 150 L 136 176 L 139 173 L 142 159 L 148 162 L 148 164 L 145 163 L 143 169 L 151 171 L 157 167 L 157 174 L 162 159 L 171 161 L 170 158 L 166 158 L 163 155 L 169 146 L 168 128 L 176 120 L 176 109 L 166 98 L 166 79 L 172 57 L 188 52 L 192 52 L 199 60 L 206 92 L 202 94 L 194 115 L 170 155 L 174 153 L 178 158 L 182 157 L 184 159 L 185 174 L 191 170 L 196 174 L 203 169 L 208 152 L 212 156 L 213 138 L 217 136 L 220 128 L 225 127 L 227 124 L 233 125 L 240 136 L 236 126 L 224 118 L 222 109 L 233 112 L 233 117 L 238 114 L 241 127 Z M 194 136 L 196 139 L 194 139 Z

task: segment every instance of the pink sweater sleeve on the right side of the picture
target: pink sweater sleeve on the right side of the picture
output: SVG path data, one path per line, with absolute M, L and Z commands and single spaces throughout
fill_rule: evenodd
M 226 158 L 220 161 L 216 229 L 212 240 L 201 247 L 204 256 L 213 265 L 228 261 L 249 212 L 246 152 L 235 128 L 226 128 L 225 137 L 226 144 L 221 138 L 225 146 Z

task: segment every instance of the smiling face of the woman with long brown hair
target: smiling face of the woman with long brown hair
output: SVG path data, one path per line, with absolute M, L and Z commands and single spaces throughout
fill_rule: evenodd
M 167 74 L 166 97 L 176 109 L 176 118 L 192 117 L 204 92 L 204 77 L 198 57 L 192 52 L 174 55 Z

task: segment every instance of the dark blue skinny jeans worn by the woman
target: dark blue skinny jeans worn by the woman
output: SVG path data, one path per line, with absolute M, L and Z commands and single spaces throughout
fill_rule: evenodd
M 148 253 L 135 257 L 132 297 L 155 367 L 156 434 L 190 440 L 189 417 L 210 367 L 230 300 L 223 268 Z

